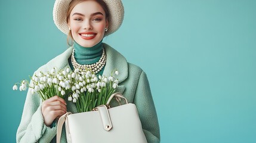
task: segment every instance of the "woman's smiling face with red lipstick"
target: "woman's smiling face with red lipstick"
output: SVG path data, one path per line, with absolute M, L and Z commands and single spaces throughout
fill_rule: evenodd
M 89 0 L 75 5 L 69 15 L 68 26 L 76 43 L 92 47 L 103 39 L 108 21 L 101 5 Z

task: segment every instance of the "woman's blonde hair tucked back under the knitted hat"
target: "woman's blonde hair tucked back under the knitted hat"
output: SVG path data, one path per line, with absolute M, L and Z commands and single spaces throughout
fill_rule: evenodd
M 67 8 L 67 18 L 66 18 L 66 22 L 69 23 L 69 18 L 70 18 L 70 13 L 71 11 L 73 10 L 73 8 L 80 4 L 81 2 L 83 1 L 87 1 L 87 0 L 73 0 L 70 2 L 69 4 L 69 8 Z M 109 10 L 107 9 L 107 5 L 105 4 L 105 2 L 103 2 L 102 0 L 95 0 L 95 2 L 97 2 L 98 4 L 100 4 L 100 6 L 103 8 L 105 14 L 106 14 L 106 20 L 109 21 Z M 72 36 L 72 33 L 71 33 L 71 30 L 69 30 L 69 33 L 67 34 L 67 44 L 69 46 L 72 46 L 73 45 L 73 36 Z M 71 41 L 71 43 L 70 43 Z

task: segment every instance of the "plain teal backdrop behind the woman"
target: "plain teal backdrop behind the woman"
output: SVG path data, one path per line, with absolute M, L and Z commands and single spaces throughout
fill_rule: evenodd
M 256 1 L 124 0 L 109 43 L 149 78 L 161 142 L 256 142 Z M 16 142 L 14 83 L 67 48 L 54 1 L 0 1 L 0 142 Z

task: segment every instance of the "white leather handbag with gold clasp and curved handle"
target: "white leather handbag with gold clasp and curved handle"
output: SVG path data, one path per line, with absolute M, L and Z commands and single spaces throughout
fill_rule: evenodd
M 126 102 L 113 108 L 109 107 L 112 98 L 123 98 Z M 135 104 L 128 103 L 119 93 L 111 95 L 106 105 L 94 111 L 64 114 L 58 120 L 57 143 L 60 142 L 63 123 L 66 126 L 68 143 L 145 143 L 146 137 L 141 127 Z

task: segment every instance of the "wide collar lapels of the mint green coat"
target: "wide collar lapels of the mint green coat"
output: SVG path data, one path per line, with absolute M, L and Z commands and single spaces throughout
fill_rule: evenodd
M 113 49 L 111 46 L 107 45 L 106 43 L 103 43 L 103 47 L 105 48 L 106 55 L 107 55 L 107 62 L 103 71 L 103 75 L 110 76 L 115 72 L 115 70 L 119 71 L 118 80 L 119 83 L 124 82 L 125 79 L 128 77 L 128 63 L 125 57 L 120 54 L 118 51 Z M 62 54 L 58 55 L 57 57 L 53 58 L 53 60 L 49 61 L 47 63 L 47 66 L 45 69 L 39 69 L 38 71 L 48 70 L 50 71 L 54 67 L 57 67 L 58 69 L 64 69 L 69 66 L 69 57 L 72 54 L 73 47 L 70 46 L 66 51 L 64 51 Z M 71 68 L 70 68 L 71 69 Z M 119 86 L 118 92 L 124 92 L 125 87 L 122 85 Z

